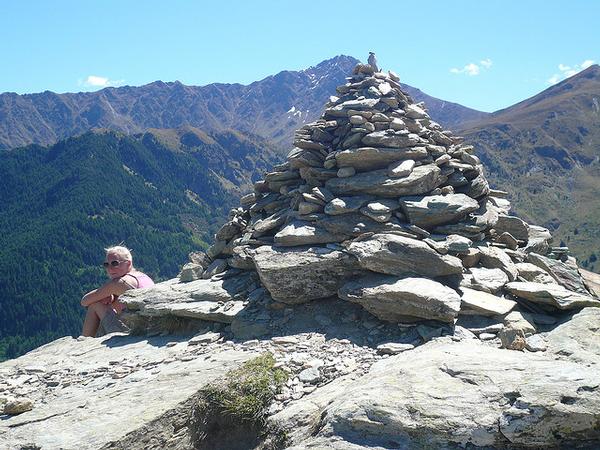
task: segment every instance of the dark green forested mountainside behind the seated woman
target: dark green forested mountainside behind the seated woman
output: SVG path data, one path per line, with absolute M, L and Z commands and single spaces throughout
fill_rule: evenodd
M 235 133 L 205 141 L 90 132 L 0 153 L 0 360 L 79 334 L 79 300 L 106 279 L 105 247 L 123 243 L 165 280 L 210 243 L 237 204 L 232 183 L 258 176 L 271 154 L 253 156 L 260 146 Z M 247 167 L 228 167 L 219 141 Z

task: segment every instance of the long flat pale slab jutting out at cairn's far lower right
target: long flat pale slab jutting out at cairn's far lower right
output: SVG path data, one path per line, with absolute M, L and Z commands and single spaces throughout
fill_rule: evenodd
M 600 307 L 600 300 L 589 295 L 565 289 L 558 284 L 514 282 L 506 285 L 511 294 L 533 303 L 554 306 L 558 309 Z

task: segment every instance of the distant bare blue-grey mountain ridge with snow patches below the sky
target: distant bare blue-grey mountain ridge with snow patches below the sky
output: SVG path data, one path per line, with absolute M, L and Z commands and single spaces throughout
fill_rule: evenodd
M 97 92 L 0 94 L 0 149 L 29 144 L 50 145 L 94 128 L 126 134 L 149 128 L 193 126 L 205 131 L 236 129 L 261 136 L 287 151 L 294 130 L 321 114 L 359 61 L 336 56 L 301 71 L 283 71 L 247 86 L 213 83 L 186 86 L 155 81 Z M 454 128 L 487 113 L 427 96 L 404 85 L 430 115 Z

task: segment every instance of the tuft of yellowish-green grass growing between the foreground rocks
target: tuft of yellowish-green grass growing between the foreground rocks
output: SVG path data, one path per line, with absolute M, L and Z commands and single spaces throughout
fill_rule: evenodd
M 229 372 L 222 383 L 204 390 L 209 408 L 232 419 L 263 424 L 267 408 L 287 381 L 287 374 L 273 366 L 270 353 Z

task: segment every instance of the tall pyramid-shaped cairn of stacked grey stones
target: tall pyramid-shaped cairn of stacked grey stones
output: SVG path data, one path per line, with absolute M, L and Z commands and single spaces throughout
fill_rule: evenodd
M 337 93 L 181 281 L 256 271 L 276 302 L 338 296 L 388 322 L 500 316 L 513 349 L 549 314 L 600 305 L 568 249 L 509 215 L 473 146 L 396 74 L 359 64 Z

